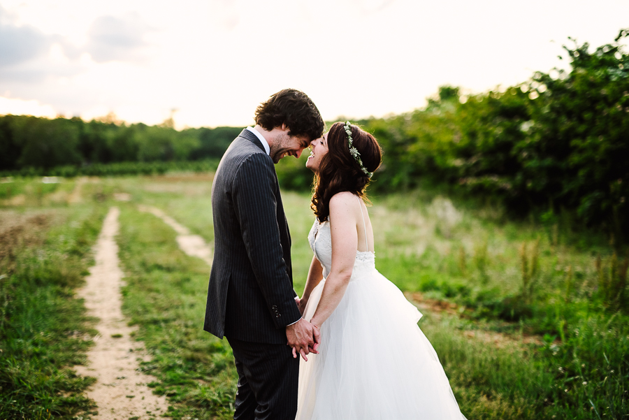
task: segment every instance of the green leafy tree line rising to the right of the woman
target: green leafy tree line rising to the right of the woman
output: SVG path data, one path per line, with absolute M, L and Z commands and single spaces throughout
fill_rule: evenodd
M 554 222 L 563 213 L 628 240 L 627 36 L 595 50 L 572 41 L 569 71 L 466 97 L 441 87 L 424 109 L 364 121 L 384 149 L 375 188 L 438 180 L 498 197 L 519 215 Z

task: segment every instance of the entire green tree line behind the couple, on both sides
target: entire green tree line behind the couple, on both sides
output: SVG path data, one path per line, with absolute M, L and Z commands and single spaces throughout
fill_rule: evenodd
M 373 189 L 445 182 L 498 198 L 519 215 L 537 212 L 553 222 L 564 214 L 629 239 L 629 55 L 621 44 L 628 36 L 623 29 L 595 49 L 572 41 L 564 46 L 568 71 L 537 72 L 482 94 L 444 86 L 425 108 L 356 122 L 384 149 Z M 240 130 L 6 115 L 0 174 L 150 173 L 186 161 L 207 170 Z M 310 188 L 312 174 L 301 161 L 282 161 L 277 173 L 284 187 Z

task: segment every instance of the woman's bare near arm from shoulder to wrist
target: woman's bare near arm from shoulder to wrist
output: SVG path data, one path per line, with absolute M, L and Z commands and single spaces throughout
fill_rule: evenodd
M 332 267 L 310 322 L 317 327 L 328 319 L 340 303 L 356 260 L 358 233 L 356 231 L 356 196 L 349 192 L 335 194 L 330 200 L 330 230 L 332 232 Z

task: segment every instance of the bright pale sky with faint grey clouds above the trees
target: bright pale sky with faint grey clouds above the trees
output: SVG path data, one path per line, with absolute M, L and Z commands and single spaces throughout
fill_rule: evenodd
M 246 126 L 286 87 L 325 120 L 404 113 L 568 68 L 628 0 L 0 0 L 0 115 Z

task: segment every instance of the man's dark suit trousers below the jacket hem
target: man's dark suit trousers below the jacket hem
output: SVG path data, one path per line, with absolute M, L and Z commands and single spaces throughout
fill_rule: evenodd
M 238 370 L 234 420 L 294 420 L 299 359 L 285 344 L 227 338 Z

